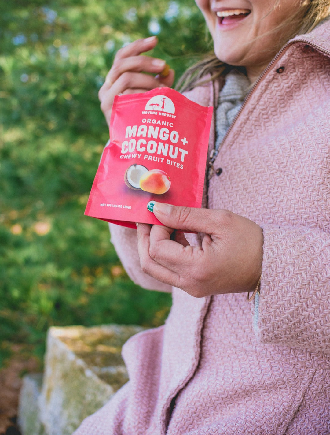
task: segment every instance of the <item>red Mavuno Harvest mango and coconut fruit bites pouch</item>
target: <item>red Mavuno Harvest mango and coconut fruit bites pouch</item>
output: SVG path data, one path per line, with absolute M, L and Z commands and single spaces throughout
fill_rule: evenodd
M 153 202 L 200 207 L 213 107 L 170 88 L 117 96 L 85 214 L 160 224 Z

